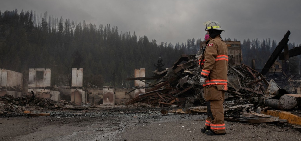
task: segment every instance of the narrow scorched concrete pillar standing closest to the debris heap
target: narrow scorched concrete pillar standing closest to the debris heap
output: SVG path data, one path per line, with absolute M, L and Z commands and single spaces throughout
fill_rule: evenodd
M 145 68 L 135 69 L 135 78 L 145 77 Z M 145 82 L 145 80 L 142 80 Z M 144 87 L 145 83 L 140 80 L 135 80 L 135 87 Z M 145 92 L 145 88 L 135 89 L 135 97 L 139 96 L 139 93 Z

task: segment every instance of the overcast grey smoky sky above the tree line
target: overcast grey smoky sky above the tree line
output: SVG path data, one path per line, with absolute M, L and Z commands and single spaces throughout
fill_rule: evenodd
M 1 0 L 0 10 L 36 11 L 73 21 L 117 26 L 160 42 L 203 39 L 203 22 L 218 21 L 222 37 L 274 39 L 290 30 L 290 41 L 301 43 L 300 0 Z

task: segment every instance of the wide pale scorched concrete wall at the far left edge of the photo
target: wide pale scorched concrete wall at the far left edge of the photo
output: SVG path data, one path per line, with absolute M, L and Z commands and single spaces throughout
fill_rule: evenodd
M 23 74 L 0 68 L 0 96 L 22 97 Z

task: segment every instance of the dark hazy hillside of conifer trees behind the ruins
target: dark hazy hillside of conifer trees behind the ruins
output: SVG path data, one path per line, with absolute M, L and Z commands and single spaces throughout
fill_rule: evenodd
M 164 67 L 171 67 L 182 54 L 196 54 L 200 41 L 203 39 L 158 43 L 147 36 L 137 37 L 135 32 L 119 32 L 110 24 L 97 26 L 47 12 L 0 11 L 0 68 L 21 72 L 24 78 L 29 68 L 51 68 L 51 85 L 57 86 L 70 86 L 72 68 L 84 69 L 86 88 L 121 86 L 133 77 L 135 68 L 154 71 L 159 58 Z M 244 40 L 244 62 L 262 58 L 256 62 L 258 68 L 263 67 L 277 44 L 271 39 Z M 268 55 L 260 55 L 262 52 Z

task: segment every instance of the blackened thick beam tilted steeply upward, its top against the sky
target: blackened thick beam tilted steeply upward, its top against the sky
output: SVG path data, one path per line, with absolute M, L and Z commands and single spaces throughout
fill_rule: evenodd
M 274 62 L 276 61 L 278 56 L 281 54 L 281 52 L 284 49 L 285 45 L 287 45 L 288 36 L 290 36 L 290 31 L 287 31 L 287 33 L 284 35 L 283 39 L 279 42 L 276 49 L 272 53 L 271 57 L 268 58 L 268 61 L 265 63 L 265 66 L 263 67 L 263 69 L 261 71 L 262 75 L 265 75 L 268 72 L 268 70 L 274 64 Z

